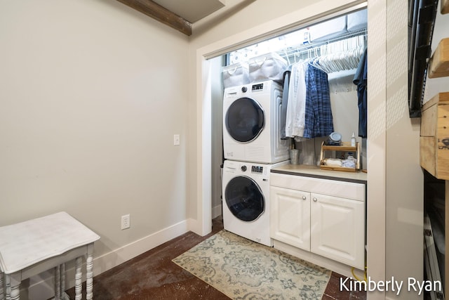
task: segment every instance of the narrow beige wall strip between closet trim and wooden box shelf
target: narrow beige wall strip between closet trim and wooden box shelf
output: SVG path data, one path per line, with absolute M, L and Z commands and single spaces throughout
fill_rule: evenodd
M 420 119 L 408 114 L 408 1 L 387 1 L 386 278 L 423 278 Z M 369 90 L 371 91 L 371 89 Z M 369 93 L 368 91 L 368 93 Z M 369 104 L 368 104 L 369 107 Z M 369 145 L 368 145 L 369 147 Z M 403 288 L 391 299 L 422 299 Z

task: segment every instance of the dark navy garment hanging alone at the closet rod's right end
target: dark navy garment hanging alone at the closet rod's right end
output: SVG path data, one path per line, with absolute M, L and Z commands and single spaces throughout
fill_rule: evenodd
M 367 95 L 366 95 L 366 79 L 368 75 L 368 58 L 365 48 L 363 55 L 358 63 L 356 74 L 354 75 L 354 84 L 357 86 L 358 97 L 358 136 L 366 138 L 367 136 Z

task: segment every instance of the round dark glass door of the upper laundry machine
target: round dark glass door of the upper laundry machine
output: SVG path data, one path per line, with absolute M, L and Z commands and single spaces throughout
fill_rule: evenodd
M 264 111 L 256 100 L 250 98 L 235 100 L 229 105 L 225 118 L 229 135 L 242 143 L 253 141 L 264 128 Z

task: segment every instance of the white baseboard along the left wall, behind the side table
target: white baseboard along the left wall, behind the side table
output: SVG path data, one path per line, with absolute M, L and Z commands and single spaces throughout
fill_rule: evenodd
M 101 256 L 95 257 L 93 260 L 93 275 L 100 275 L 101 273 L 119 266 L 121 263 L 139 256 L 155 247 L 168 242 L 175 237 L 187 233 L 187 231 L 192 230 L 194 226 L 194 220 L 185 220 L 179 223 L 159 230 L 156 233 L 142 237 L 139 240 L 130 242 L 123 247 L 114 249 L 111 252 L 103 254 Z M 83 264 L 83 282 L 86 281 L 86 266 Z M 66 264 L 66 289 L 72 288 L 75 285 L 75 270 L 74 263 Z M 20 298 L 21 299 L 36 299 L 45 300 L 50 299 L 54 296 L 54 279 L 53 271 L 48 270 L 40 275 L 34 276 L 29 280 L 22 282 L 20 287 Z M 95 285 L 95 279 L 94 279 Z

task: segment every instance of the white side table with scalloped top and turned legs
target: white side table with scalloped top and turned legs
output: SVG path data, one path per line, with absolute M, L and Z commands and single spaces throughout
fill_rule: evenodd
M 93 299 L 93 242 L 99 239 L 64 211 L 0 227 L 0 300 L 19 299 L 22 280 L 51 268 L 55 269 L 55 299 L 69 299 L 65 263 L 73 259 L 75 299 L 81 300 L 82 256 L 86 256 L 86 298 Z

